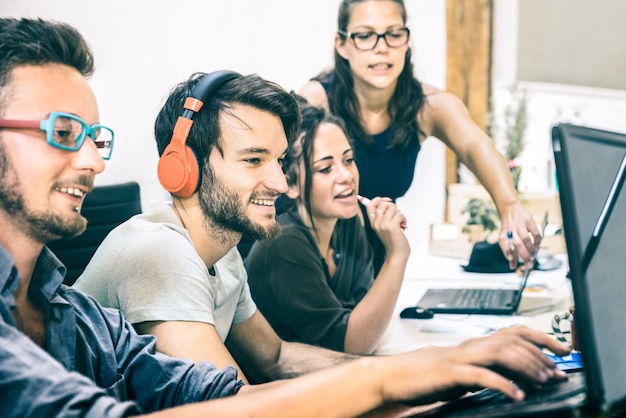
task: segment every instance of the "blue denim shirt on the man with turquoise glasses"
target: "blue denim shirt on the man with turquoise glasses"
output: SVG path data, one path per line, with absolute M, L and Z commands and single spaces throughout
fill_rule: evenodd
M 62 284 L 64 274 L 44 248 L 28 289 L 46 313 L 43 350 L 13 320 L 20 279 L 0 246 L 0 416 L 122 417 L 230 396 L 243 385 L 232 366 L 157 353 L 154 337 Z

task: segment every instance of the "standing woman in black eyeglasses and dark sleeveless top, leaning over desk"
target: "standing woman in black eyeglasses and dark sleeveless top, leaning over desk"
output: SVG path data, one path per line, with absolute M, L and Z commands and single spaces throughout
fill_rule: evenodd
M 406 21 L 403 0 L 343 0 L 335 66 L 299 93 L 343 119 L 364 196 L 393 201 L 403 196 L 413 181 L 421 144 L 430 136 L 439 138 L 492 196 L 502 220 L 500 247 L 511 267 L 517 266 L 518 256 L 532 263 L 541 235 L 517 196 L 504 158 L 459 98 L 415 78 Z M 384 248 L 371 228 L 368 235 L 378 269 Z

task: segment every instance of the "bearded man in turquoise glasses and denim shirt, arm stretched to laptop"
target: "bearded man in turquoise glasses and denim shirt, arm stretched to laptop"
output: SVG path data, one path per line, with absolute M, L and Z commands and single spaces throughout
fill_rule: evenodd
M 85 229 L 83 199 L 111 155 L 86 80 L 91 51 L 71 26 L 0 18 L 0 57 L 1 417 L 332 418 L 475 386 L 523 396 L 490 367 L 531 384 L 562 377 L 536 345 L 568 350 L 524 328 L 254 386 L 233 366 L 159 354 L 119 311 L 63 285 L 45 246 Z

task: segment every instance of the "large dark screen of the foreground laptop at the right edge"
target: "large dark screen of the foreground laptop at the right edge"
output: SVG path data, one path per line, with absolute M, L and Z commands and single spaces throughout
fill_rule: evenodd
M 605 409 L 626 398 L 626 193 L 614 197 L 588 266 L 582 260 L 626 155 L 626 135 L 560 124 L 552 138 L 589 401 Z

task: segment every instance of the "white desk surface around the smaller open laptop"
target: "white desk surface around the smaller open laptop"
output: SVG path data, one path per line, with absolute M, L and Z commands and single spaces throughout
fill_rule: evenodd
M 400 319 L 400 311 L 415 306 L 430 287 L 515 287 L 521 280 L 515 273 L 467 273 L 461 268 L 463 260 L 431 256 L 426 249 L 411 257 L 412 267 L 407 271 L 393 318 L 376 354 L 394 354 L 427 345 L 457 345 L 518 324 L 551 332 L 554 314 L 572 305 L 567 259 L 559 256 L 563 261 L 559 269 L 531 272 L 516 315 L 436 314 L 432 319 Z

